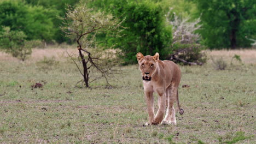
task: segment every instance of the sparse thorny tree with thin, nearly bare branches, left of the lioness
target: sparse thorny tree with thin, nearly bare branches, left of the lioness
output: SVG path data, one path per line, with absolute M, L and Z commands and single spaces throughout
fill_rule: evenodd
M 86 7 L 86 3 L 82 2 L 74 9 L 69 7 L 66 17 L 62 20 L 62 31 L 66 33 L 67 37 L 75 39 L 77 42 L 79 59 L 82 61 L 83 71 L 79 69 L 77 63 L 75 65 L 83 75 L 85 86 L 89 87 L 90 82 L 101 77 L 110 85 L 108 82 L 109 76 L 117 72 L 113 69 L 116 64 L 114 61 L 116 57 L 113 56 L 112 51 L 104 50 L 104 47 L 97 44 L 95 35 L 104 32 L 119 33 L 121 31 L 119 29 L 121 22 L 110 14 L 94 11 Z M 75 62 L 74 59 L 72 60 Z M 100 71 L 101 76 L 90 80 L 91 68 Z

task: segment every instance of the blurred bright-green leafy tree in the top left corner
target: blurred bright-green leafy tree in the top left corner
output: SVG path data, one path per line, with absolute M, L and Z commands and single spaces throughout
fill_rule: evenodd
M 10 27 L 11 31 L 22 31 L 26 39 L 50 41 L 55 32 L 51 19 L 54 10 L 42 6 L 31 6 L 22 1 L 0 2 L 0 26 Z M 1 30 L 1 29 L 0 29 Z

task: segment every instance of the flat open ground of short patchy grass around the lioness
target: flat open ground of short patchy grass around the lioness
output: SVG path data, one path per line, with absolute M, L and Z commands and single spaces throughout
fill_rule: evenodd
M 123 74 L 110 80 L 112 88 L 104 80 L 92 88 L 75 87 L 82 77 L 65 51 L 36 49 L 25 62 L 0 53 L 0 143 L 256 141 L 256 50 L 208 52 L 223 57 L 225 70 L 214 69 L 211 60 L 201 67 L 181 66 L 184 114 L 177 114 L 177 125 L 148 127 L 137 65 L 120 67 Z M 235 54 L 242 63 L 230 65 Z M 43 87 L 32 88 L 36 82 Z

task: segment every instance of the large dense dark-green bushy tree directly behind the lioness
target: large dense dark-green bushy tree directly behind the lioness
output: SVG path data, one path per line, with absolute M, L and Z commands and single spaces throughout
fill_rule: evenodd
M 106 44 L 117 44 L 121 49 L 125 64 L 136 63 L 136 53 L 142 52 L 153 55 L 161 52 L 163 57 L 170 53 L 171 27 L 165 25 L 165 10 L 160 3 L 152 1 L 126 1 L 110 0 L 95 1 L 91 7 L 102 8 L 115 17 L 123 20 L 122 26 L 126 27 L 121 32 L 121 38 L 108 38 Z M 167 50 L 168 49 L 168 50 Z

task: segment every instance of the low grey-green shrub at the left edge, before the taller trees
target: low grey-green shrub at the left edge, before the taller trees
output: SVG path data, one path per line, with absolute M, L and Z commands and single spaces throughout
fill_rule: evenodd
M 32 48 L 40 45 L 39 40 L 26 40 L 26 34 L 22 31 L 10 31 L 9 27 L 3 27 L 0 33 L 0 49 L 18 59 L 25 61 L 31 55 Z

